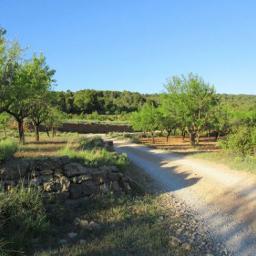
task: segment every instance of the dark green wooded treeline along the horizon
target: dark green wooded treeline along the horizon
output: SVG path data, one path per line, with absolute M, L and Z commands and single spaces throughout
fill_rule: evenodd
M 139 111 L 145 104 L 158 106 L 161 102 L 161 93 L 142 94 L 138 92 L 79 90 L 77 92 L 53 92 L 56 106 L 68 114 L 92 113 L 119 114 Z M 256 108 L 256 95 L 245 94 L 218 94 L 221 102 L 237 110 L 252 110 Z

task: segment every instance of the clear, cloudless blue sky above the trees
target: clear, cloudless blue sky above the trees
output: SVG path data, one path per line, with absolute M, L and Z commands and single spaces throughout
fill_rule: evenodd
M 256 94 L 256 1 L 1 0 L 0 26 L 56 70 L 56 90 L 163 91 L 194 72 Z

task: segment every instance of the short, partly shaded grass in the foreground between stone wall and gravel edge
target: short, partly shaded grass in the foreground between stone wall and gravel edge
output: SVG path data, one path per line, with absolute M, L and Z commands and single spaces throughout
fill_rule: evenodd
M 79 218 L 100 225 L 98 232 L 86 228 L 81 230 L 80 236 L 88 243 L 75 243 L 72 247 L 63 246 L 60 250 L 52 249 L 35 255 L 49 256 L 56 252 L 63 256 L 188 255 L 183 248 L 173 248 L 170 244 L 170 227 L 175 221 L 171 207 L 162 206 L 163 197 L 105 195 L 91 198 L 76 212 Z M 70 227 L 67 230 L 71 230 Z

